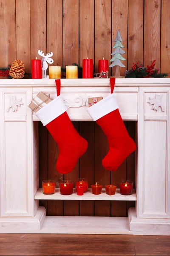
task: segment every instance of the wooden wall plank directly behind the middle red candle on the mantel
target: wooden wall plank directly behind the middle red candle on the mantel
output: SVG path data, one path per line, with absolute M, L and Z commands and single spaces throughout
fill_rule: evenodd
M 79 1 L 79 64 L 94 60 L 94 0 Z

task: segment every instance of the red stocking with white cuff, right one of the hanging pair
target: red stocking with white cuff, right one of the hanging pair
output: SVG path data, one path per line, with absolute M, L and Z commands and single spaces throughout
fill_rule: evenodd
M 102 165 L 107 170 L 116 171 L 125 158 L 135 151 L 136 145 L 127 133 L 113 95 L 115 78 L 111 78 L 110 82 L 112 94 L 88 108 L 87 111 L 108 138 L 109 151 L 102 160 Z

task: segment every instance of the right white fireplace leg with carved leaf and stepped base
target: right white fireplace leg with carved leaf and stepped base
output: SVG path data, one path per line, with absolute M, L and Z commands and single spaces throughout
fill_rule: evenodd
M 129 210 L 131 231 L 170 232 L 169 93 L 169 87 L 139 88 L 137 203 L 136 212 Z

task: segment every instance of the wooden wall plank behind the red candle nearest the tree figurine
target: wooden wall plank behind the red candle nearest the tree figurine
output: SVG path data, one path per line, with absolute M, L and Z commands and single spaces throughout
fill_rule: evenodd
M 95 73 L 99 59 L 111 56 L 111 0 L 95 1 Z M 109 68 L 110 72 L 110 68 Z

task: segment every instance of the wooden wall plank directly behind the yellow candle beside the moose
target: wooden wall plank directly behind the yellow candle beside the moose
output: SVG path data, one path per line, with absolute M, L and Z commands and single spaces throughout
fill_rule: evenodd
M 47 52 L 53 52 L 54 66 L 63 65 L 62 0 L 47 0 Z

